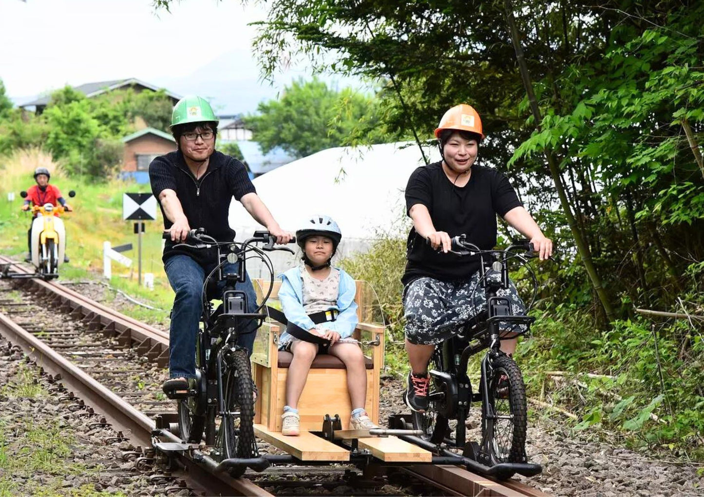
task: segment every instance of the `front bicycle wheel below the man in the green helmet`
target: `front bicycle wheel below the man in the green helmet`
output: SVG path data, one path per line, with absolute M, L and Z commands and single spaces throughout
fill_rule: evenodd
M 235 351 L 225 361 L 222 370 L 222 394 L 225 406 L 215 439 L 220 460 L 253 458 L 258 454 L 254 438 L 254 399 L 249 358 L 244 350 Z M 238 478 L 246 468 L 230 470 Z

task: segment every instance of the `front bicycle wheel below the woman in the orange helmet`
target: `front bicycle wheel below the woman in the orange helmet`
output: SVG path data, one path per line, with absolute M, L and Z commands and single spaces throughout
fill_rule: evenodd
M 526 394 L 521 370 L 501 354 L 492 361 L 489 415 L 482 410 L 482 451 L 490 465 L 524 463 L 528 425 Z

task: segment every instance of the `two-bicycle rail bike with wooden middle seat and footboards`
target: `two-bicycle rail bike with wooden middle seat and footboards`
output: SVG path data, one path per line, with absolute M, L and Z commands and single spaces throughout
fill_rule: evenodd
M 267 249 L 272 250 L 273 240 L 266 232 L 255 233 L 257 242 L 266 243 Z M 276 311 L 280 307 L 277 302 L 280 281 L 275 280 L 272 266 L 265 254 L 267 250 L 256 250 L 242 246 L 240 243 L 213 243 L 206 242 L 201 237 L 201 242 L 210 247 L 225 248 L 225 258 L 230 257 L 234 262 L 237 257 L 244 260 L 244 252 L 256 254 L 270 268 L 270 278 L 253 279 L 253 284 L 260 303 L 256 315 L 244 315 L 242 309 L 246 306 L 230 306 L 228 297 L 223 295 L 223 306 L 219 306 L 220 314 L 215 311 L 214 321 L 220 323 L 221 331 L 215 333 L 216 328 L 204 325 L 199 339 L 199 354 L 201 370 L 196 387 L 179 399 L 177 414 L 164 414 L 157 420 L 159 430 L 168 430 L 177 435 L 182 441 L 180 444 L 169 444 L 156 441 L 156 448 L 168 455 L 172 451 L 188 452 L 202 449 L 210 453 L 208 465 L 215 472 L 225 472 L 232 477 L 244 474 L 246 468 L 263 471 L 270 465 L 310 465 L 310 464 L 339 464 L 351 463 L 358 467 L 368 465 L 456 465 L 466 467 L 472 472 L 508 479 L 516 473 L 524 476 L 536 475 L 541 467 L 528 463 L 519 453 L 518 448 L 505 446 L 503 432 L 498 430 L 500 421 L 503 422 L 507 415 L 498 407 L 504 406 L 510 410 L 515 408 L 513 400 L 508 404 L 496 404 L 498 396 L 492 396 L 496 390 L 496 377 L 498 373 L 509 373 L 509 382 L 517 385 L 513 374 L 513 367 L 505 364 L 505 359 L 485 359 L 484 379 L 479 392 L 471 393 L 470 387 L 458 386 L 458 379 L 468 385 L 465 375 L 458 373 L 455 367 L 452 372 L 439 371 L 434 375 L 436 385 L 445 385 L 444 390 L 431 394 L 436 411 L 428 417 L 418 417 L 398 413 L 391 415 L 387 427 L 372 430 L 350 430 L 349 413 L 351 403 L 346 385 L 346 369 L 344 363 L 334 356 L 319 354 L 315 357 L 308 373 L 306 386 L 298 401 L 300 413 L 301 433 L 297 437 L 282 434 L 282 408 L 284 405 L 288 368 L 291 364 L 292 354 L 279 351 L 279 337 L 286 329 L 285 323 L 280 321 L 281 314 Z M 247 240 L 246 245 L 253 245 L 253 240 Z M 458 247 L 455 247 L 458 248 Z M 279 249 L 280 250 L 280 249 Z M 466 247 L 464 250 L 467 250 Z M 501 251 L 496 251 L 498 252 Z M 237 255 L 239 253 L 239 255 Z M 502 254 L 504 252 L 501 252 Z M 487 257 L 489 254 L 484 254 Z M 501 259 L 496 258 L 494 262 Z M 222 256 L 221 256 L 222 257 Z M 496 266 L 494 270 L 496 270 Z M 508 280 L 508 270 L 498 271 L 500 278 L 487 273 L 486 280 L 491 285 Z M 493 274 L 493 273 L 492 273 Z M 222 276 L 221 276 L 222 277 Z M 235 276 L 225 276 L 225 279 Z M 498 283 L 496 283 L 498 282 Z M 379 387 L 384 366 L 385 326 L 382 308 L 372 286 L 363 281 L 356 281 L 356 303 L 358 304 L 358 325 L 353 335 L 359 342 L 366 357 L 367 370 L 367 399 L 366 411 L 372 422 L 381 424 L 379 419 Z M 491 288 L 494 288 L 492 286 Z M 204 285 L 205 288 L 205 285 Z M 205 291 L 205 290 L 204 290 Z M 227 291 L 227 290 L 225 290 Z M 234 295 L 234 294 L 233 294 Z M 497 306 L 502 304 L 501 299 L 491 301 L 489 313 L 496 312 Z M 227 361 L 234 361 L 237 349 L 232 347 L 234 335 L 234 313 L 232 309 L 240 309 L 240 314 L 246 318 L 260 321 L 256 339 L 253 346 L 251 361 L 246 367 L 225 366 Z M 210 312 L 213 307 L 210 307 Z M 228 311 L 230 309 L 230 311 Z M 274 309 L 273 311 L 271 309 Z M 510 318 L 504 312 L 503 318 Z M 532 318 L 515 316 L 516 322 L 528 323 Z M 494 323 L 498 319 L 486 316 L 482 321 L 477 321 L 471 337 L 474 339 L 472 347 L 477 348 L 479 342 L 487 344 L 491 353 L 498 350 L 498 338 L 494 335 Z M 489 323 L 485 325 L 484 323 Z M 230 331 L 227 331 L 230 329 Z M 478 341 L 477 341 L 478 340 Z M 492 341 L 493 340 L 493 341 Z M 472 342 L 472 340 L 470 340 Z M 479 347 L 479 350 L 486 347 Z M 457 366 L 465 367 L 470 351 L 458 350 Z M 204 351 L 209 351 L 205 354 Z M 441 350 L 442 352 L 442 350 Z M 230 354 L 230 359 L 227 359 Z M 455 354 L 456 355 L 456 354 Z M 463 359 L 463 355 L 467 356 Z M 454 357 L 451 358 L 455 363 Z M 235 361 L 237 362 L 237 361 Z M 515 364 L 515 363 L 514 363 Z M 219 373 L 213 375 L 213 371 Z M 204 370 L 210 373 L 203 373 Z M 227 374 L 231 370 L 230 380 Z M 237 372 L 235 372 L 237 371 Z M 465 370 L 466 371 L 466 370 Z M 442 374 L 440 374 L 442 373 Z M 431 373 L 433 374 L 433 373 Z M 520 374 L 520 373 L 519 373 Z M 251 376 L 250 376 L 251 375 Z M 454 375 L 454 376 L 453 376 Z M 251 380 L 250 380 L 251 378 Z M 447 381 L 445 381 L 447 380 Z M 443 382 L 445 383 L 443 384 Z M 256 399 L 253 399 L 252 387 L 254 385 Z M 509 385 L 509 398 L 515 395 Z M 453 389 L 454 388 L 454 389 Z M 505 388 L 505 385 L 502 386 Z M 460 389 L 463 389 L 461 394 Z M 448 396 L 444 396 L 449 392 Z M 486 393 L 485 393 L 486 392 Z M 442 397 L 444 396 L 444 397 Z M 441 398 L 442 397 L 442 398 Z M 501 395 L 503 401 L 503 394 Z M 463 427 L 455 435 L 449 433 L 448 420 L 452 418 L 449 411 L 442 411 L 441 406 L 452 404 L 455 413 L 466 413 L 471 401 L 486 401 L 484 413 L 484 433 L 489 433 L 484 440 L 479 442 L 465 442 Z M 494 404 L 491 404 L 494 399 Z M 467 402 L 467 404 L 460 404 Z M 513 404 L 512 404 L 513 403 Z M 519 402 L 520 403 L 520 402 Z M 494 406 L 493 410 L 491 406 Z M 461 406 L 461 407 L 460 407 Z M 459 409 L 458 409 L 459 408 Z M 460 414 L 461 417 L 461 414 Z M 464 420 L 464 418 L 463 418 Z M 505 423 L 504 423 L 505 424 Z M 458 426 L 460 423 L 458 423 Z M 210 426 L 210 429 L 208 428 Z M 210 435 L 208 435 L 210 430 Z M 203 437 L 203 433 L 205 436 Z M 520 441 L 520 428 L 515 430 Z M 258 451 L 256 439 L 266 441 L 279 448 L 284 454 L 261 454 Z M 513 440 L 513 439 L 512 439 Z M 460 447 L 458 451 L 457 448 Z M 522 449 L 522 446 L 520 446 Z M 507 452 L 508 450 L 508 452 Z M 518 454 L 520 457 L 515 457 Z

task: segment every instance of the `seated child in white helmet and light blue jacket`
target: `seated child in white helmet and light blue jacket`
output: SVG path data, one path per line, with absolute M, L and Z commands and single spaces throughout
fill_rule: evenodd
M 367 372 L 364 354 L 352 338 L 356 328 L 356 286 L 345 271 L 330 262 L 342 238 L 337 223 L 328 216 L 313 216 L 296 231 L 296 243 L 303 250 L 302 263 L 282 274 L 279 290 L 287 330 L 279 350 L 294 355 L 286 381 L 282 434 L 298 435 L 298 399 L 310 364 L 318 354 L 338 357 L 347 368 L 347 388 L 352 404 L 350 428 L 377 428 L 364 409 Z

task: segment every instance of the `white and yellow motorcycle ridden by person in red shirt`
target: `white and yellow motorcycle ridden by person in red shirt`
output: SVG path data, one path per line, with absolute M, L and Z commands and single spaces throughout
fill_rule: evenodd
M 73 190 L 68 192 L 69 197 L 75 195 Z M 20 196 L 26 198 L 27 192 L 20 192 Z M 58 278 L 58 266 L 63 262 L 66 250 L 66 231 L 63 220 L 58 216 L 67 211 L 61 205 L 55 206 L 47 202 L 32 206 L 31 212 L 36 216 L 32 221 L 32 264 L 42 278 Z

